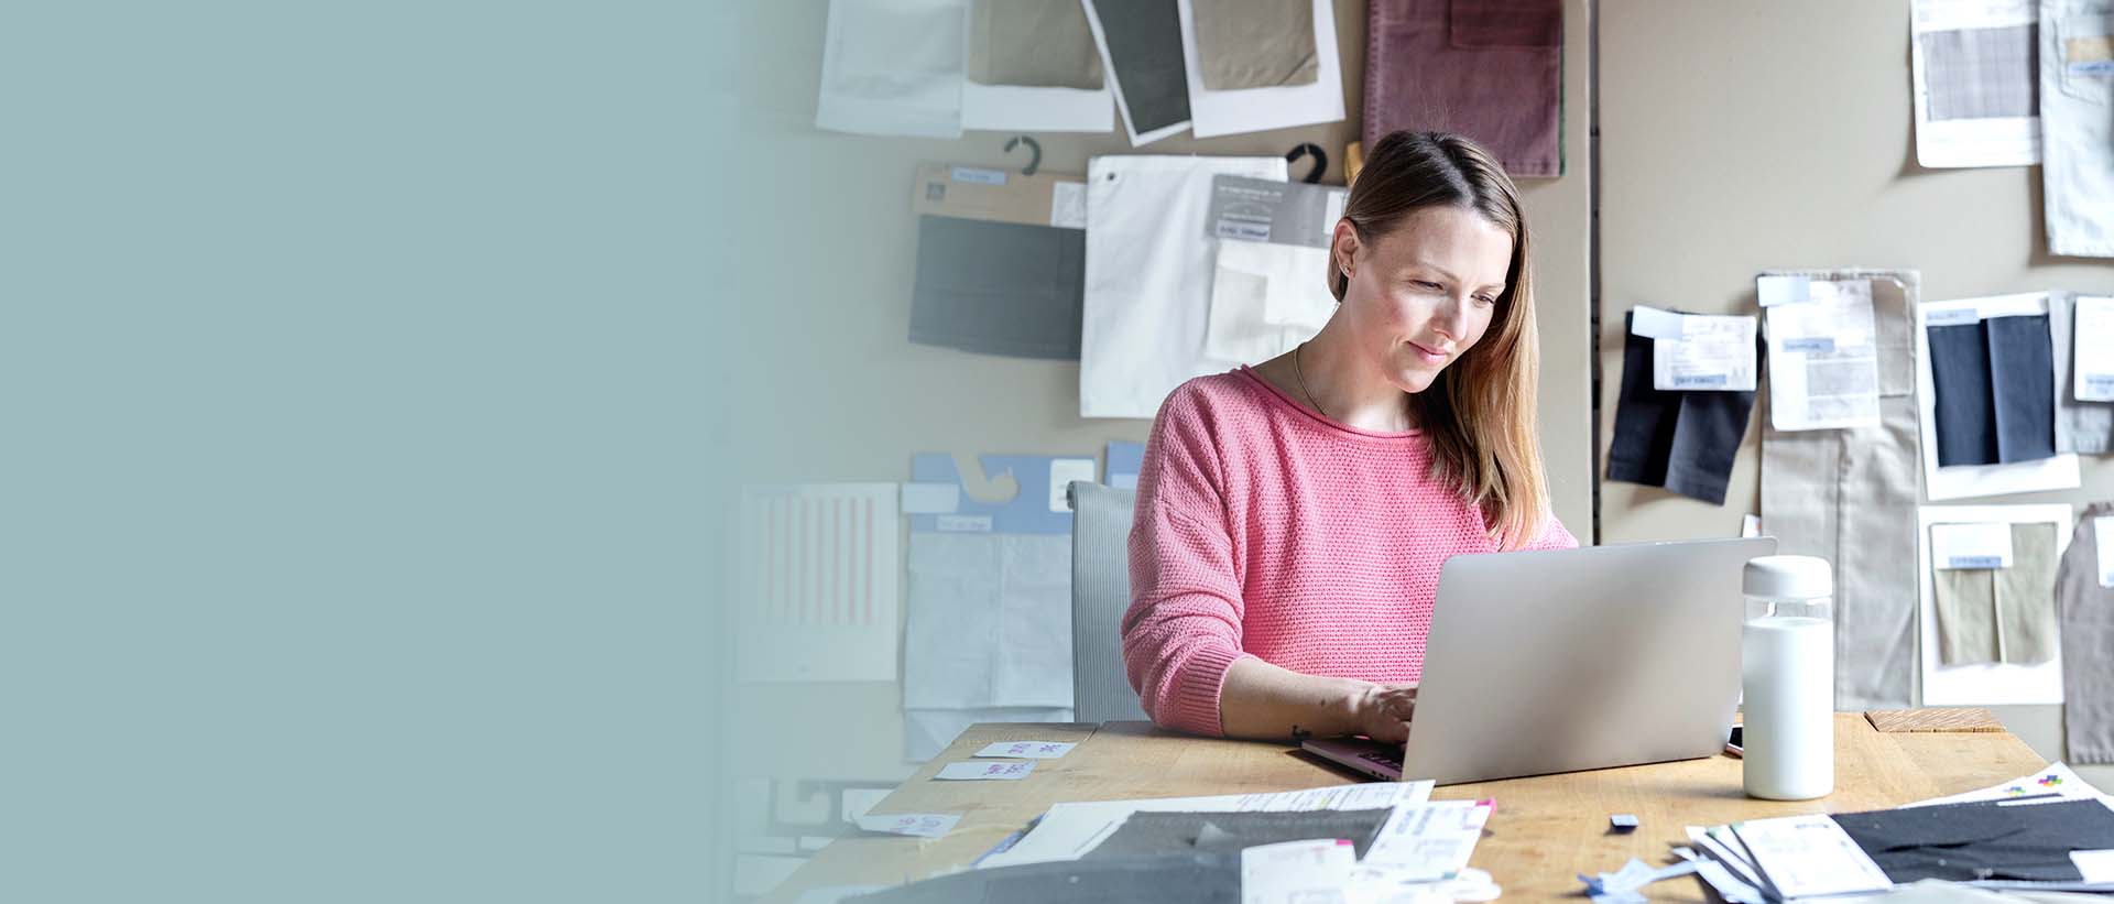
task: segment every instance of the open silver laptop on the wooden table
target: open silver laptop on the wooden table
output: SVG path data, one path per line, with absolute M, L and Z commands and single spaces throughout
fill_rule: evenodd
M 1454 555 L 1406 746 L 1315 739 L 1383 779 L 1463 784 L 1725 750 L 1740 572 L 1774 536 Z

